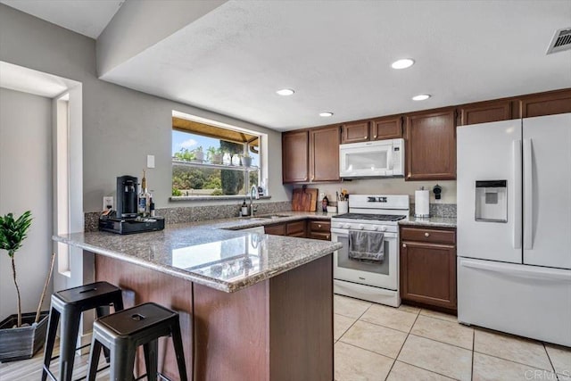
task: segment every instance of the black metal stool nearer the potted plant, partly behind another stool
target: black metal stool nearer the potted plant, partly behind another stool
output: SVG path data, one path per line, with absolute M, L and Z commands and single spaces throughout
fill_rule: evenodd
M 52 306 L 47 326 L 46 348 L 44 349 L 44 367 L 42 381 L 49 374 L 56 379 L 50 371 L 52 360 L 60 358 L 60 380 L 70 381 L 73 373 L 75 352 L 87 345 L 76 348 L 79 332 L 79 321 L 83 311 L 96 309 L 97 317 L 109 314 L 109 306 L 113 305 L 115 311 L 123 310 L 121 289 L 107 282 L 95 282 L 62 290 L 52 295 Z M 54 352 L 55 335 L 58 323 L 62 319 L 60 332 L 60 355 L 52 357 Z M 109 359 L 108 353 L 105 357 Z

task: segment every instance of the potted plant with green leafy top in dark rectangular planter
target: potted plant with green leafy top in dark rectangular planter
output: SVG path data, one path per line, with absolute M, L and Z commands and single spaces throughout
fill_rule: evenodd
M 12 213 L 0 216 L 0 249 L 8 252 L 12 262 L 12 278 L 17 296 L 17 313 L 0 322 L 0 362 L 30 359 L 46 341 L 48 311 L 41 311 L 41 307 L 54 269 L 54 254 L 36 313 L 21 313 L 20 286 L 16 277 L 14 256 L 28 236 L 31 222 L 30 211 L 25 211 L 18 219 L 14 219 Z

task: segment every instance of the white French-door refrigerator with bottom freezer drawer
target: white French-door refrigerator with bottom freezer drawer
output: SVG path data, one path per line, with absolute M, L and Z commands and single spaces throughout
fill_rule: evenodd
M 571 346 L 571 113 L 457 144 L 459 322 Z

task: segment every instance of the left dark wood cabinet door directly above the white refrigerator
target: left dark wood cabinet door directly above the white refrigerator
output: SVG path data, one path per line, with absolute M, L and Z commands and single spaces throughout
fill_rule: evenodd
M 491 121 L 510 120 L 514 118 L 511 100 L 482 102 L 459 106 L 459 126 L 488 123 Z

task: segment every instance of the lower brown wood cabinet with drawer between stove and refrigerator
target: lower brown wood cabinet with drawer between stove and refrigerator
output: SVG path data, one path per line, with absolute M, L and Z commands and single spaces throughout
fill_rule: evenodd
M 456 310 L 456 229 L 401 227 L 401 299 Z

